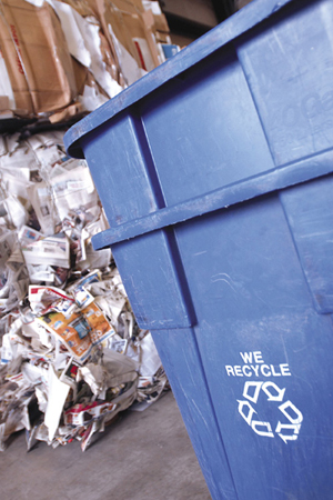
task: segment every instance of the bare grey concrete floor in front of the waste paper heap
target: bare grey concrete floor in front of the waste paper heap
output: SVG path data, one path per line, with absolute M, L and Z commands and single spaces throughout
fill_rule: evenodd
M 172 392 L 127 410 L 82 453 L 73 441 L 27 453 L 24 433 L 0 453 L 1 500 L 210 500 Z

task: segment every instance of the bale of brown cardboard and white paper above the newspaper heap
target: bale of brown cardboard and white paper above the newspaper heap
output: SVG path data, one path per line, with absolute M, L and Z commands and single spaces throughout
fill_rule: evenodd
M 3 0 L 0 119 L 89 112 L 164 62 L 158 1 Z

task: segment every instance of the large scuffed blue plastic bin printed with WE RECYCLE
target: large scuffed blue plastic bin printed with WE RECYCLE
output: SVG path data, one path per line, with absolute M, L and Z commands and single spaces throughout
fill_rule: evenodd
M 65 134 L 214 499 L 333 499 L 333 2 L 254 0 Z

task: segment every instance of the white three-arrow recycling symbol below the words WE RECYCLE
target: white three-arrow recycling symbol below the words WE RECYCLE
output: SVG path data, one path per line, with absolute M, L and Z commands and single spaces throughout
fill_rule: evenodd
M 258 402 L 261 391 L 266 394 L 268 401 L 278 402 L 283 401 L 285 393 L 285 389 L 281 389 L 274 382 L 245 382 L 243 397 L 246 398 L 246 400 L 238 400 L 239 412 L 256 434 L 274 438 L 275 434 L 271 423 L 256 420 L 255 416 L 258 413 L 251 404 L 251 402 L 254 404 Z M 287 441 L 295 441 L 299 438 L 303 414 L 291 401 L 282 402 L 282 404 L 279 406 L 279 410 L 287 419 L 289 423 L 282 423 L 279 420 L 275 433 L 285 443 L 287 443 Z

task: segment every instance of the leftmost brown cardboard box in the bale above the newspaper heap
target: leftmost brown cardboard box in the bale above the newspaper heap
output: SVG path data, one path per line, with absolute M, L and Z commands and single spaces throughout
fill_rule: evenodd
M 77 96 L 75 78 L 60 21 L 44 2 L 1 2 L 0 49 L 16 108 L 31 114 L 68 106 Z

